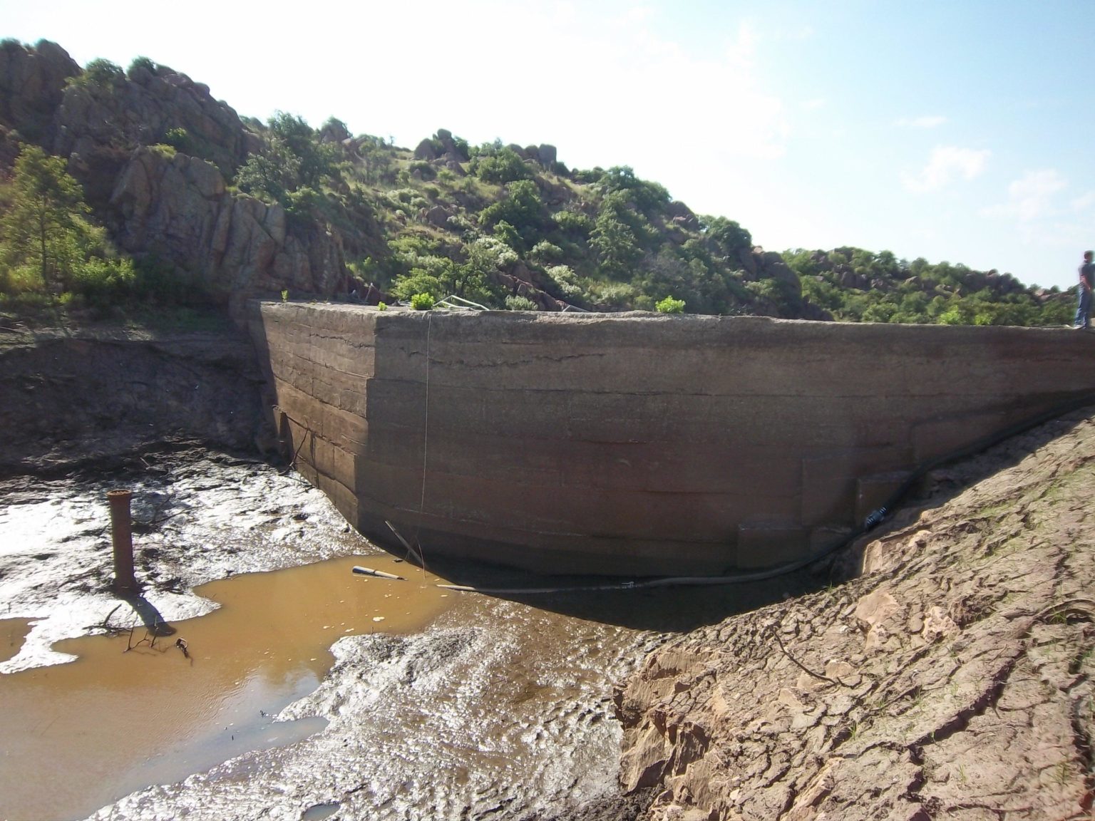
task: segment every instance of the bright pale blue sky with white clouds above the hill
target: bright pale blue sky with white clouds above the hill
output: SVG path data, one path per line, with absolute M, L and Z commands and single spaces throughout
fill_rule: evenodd
M 0 0 L 0 37 L 137 56 L 241 116 L 630 165 L 768 251 L 1075 284 L 1095 247 L 1092 0 Z

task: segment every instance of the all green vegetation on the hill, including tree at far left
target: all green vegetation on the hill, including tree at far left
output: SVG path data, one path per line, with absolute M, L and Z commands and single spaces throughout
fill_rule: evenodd
M 4 48 L 13 47 L 5 42 Z M 132 105 L 147 113 L 153 103 L 145 90 L 169 80 L 208 96 L 204 86 L 143 57 L 128 71 L 94 60 L 69 78 L 65 93 L 111 109 L 130 105 L 131 91 Z M 231 116 L 218 112 L 222 128 L 216 134 L 235 123 L 232 151 L 217 144 L 214 132 L 196 132 L 195 124 L 208 118 L 192 117 L 187 127 L 160 112 L 143 127 L 127 122 L 114 134 L 96 135 L 106 146 L 99 157 L 120 169 L 128 152 L 151 143 L 164 158 L 182 153 L 214 162 L 230 192 L 280 206 L 302 231 L 336 235 L 346 293 L 357 290 L 371 301 L 456 294 L 499 309 L 653 311 L 672 304 L 708 314 L 1017 325 L 1062 324 L 1072 310 L 1071 298 L 1056 289 L 1036 291 L 1010 275 L 963 265 L 848 247 L 765 253 L 738 222 L 693 213 L 631 167 L 572 171 L 552 146 L 474 146 L 439 129 L 410 151 L 354 136 L 333 117 L 315 129 L 286 113 L 262 123 L 227 111 Z M 48 130 L 35 127 L 36 134 Z M 9 148 L 19 139 L 5 134 Z M 239 146 L 246 149 L 237 151 Z M 200 301 L 200 280 L 180 279 L 186 285 L 172 288 L 172 266 L 154 250 L 135 252 L 135 263 L 111 250 L 93 221 L 112 224 L 110 213 L 99 213 L 111 207 L 106 197 L 89 195 L 96 209 L 89 215 L 81 197 L 58 195 L 50 242 L 31 247 L 22 187 L 30 161 L 23 158 L 36 152 L 35 162 L 48 166 L 46 176 L 61 187 L 71 177 L 65 161 L 35 147 L 21 150 L 0 187 L 0 299 L 100 308 L 145 297 Z M 81 183 L 96 188 L 85 177 Z

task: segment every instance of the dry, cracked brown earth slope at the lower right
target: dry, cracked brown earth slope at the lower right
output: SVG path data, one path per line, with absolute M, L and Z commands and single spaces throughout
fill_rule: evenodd
M 1091 817 L 1095 415 L 933 482 L 860 578 L 689 634 L 618 693 L 646 818 Z

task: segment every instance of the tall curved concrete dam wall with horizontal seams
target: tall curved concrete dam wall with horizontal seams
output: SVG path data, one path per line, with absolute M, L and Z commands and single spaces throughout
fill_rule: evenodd
M 540 573 L 808 556 L 1095 393 L 1067 329 L 252 303 L 286 451 L 366 535 Z

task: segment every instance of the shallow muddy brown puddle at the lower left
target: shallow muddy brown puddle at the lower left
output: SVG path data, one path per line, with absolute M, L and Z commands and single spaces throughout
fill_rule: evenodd
M 355 565 L 407 580 L 359 576 Z M 77 661 L 0 675 L 0 818 L 84 817 L 142 786 L 318 731 L 323 719 L 274 717 L 316 686 L 337 638 L 428 624 L 454 601 L 437 581 L 378 555 L 235 576 L 197 588 L 220 609 L 154 641 L 123 604 L 111 620 L 120 634 L 56 645 Z M 27 620 L 0 622 L 0 659 L 26 631 Z

